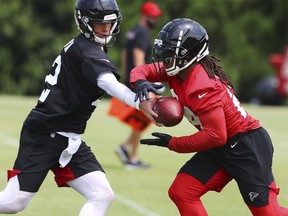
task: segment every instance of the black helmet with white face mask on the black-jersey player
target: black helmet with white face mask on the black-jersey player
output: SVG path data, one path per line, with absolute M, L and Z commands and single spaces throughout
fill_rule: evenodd
M 113 46 L 120 32 L 121 12 L 115 0 L 77 0 L 75 22 L 82 34 L 101 46 Z M 112 27 L 106 38 L 97 37 L 91 23 L 111 23 Z M 113 41 L 111 39 L 113 38 Z

